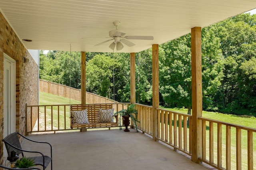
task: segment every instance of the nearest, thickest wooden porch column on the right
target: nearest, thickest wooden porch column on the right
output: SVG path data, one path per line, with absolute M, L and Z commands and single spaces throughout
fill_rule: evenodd
M 201 27 L 191 29 L 191 71 L 192 71 L 192 158 L 200 163 L 202 157 L 202 36 Z

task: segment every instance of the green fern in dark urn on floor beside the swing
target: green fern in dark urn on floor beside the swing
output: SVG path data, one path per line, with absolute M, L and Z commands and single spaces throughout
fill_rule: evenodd
M 130 125 L 130 119 L 129 118 L 131 118 L 131 121 L 134 122 L 134 125 L 136 127 L 136 131 L 138 132 L 137 122 L 140 122 L 140 121 L 138 121 L 138 119 L 136 118 L 137 114 L 138 114 L 138 111 L 134 107 L 135 107 L 134 104 L 129 105 L 127 107 L 127 109 L 122 109 L 121 111 L 118 111 L 114 114 L 114 115 L 119 115 L 119 120 L 118 121 L 119 121 L 120 130 L 122 130 L 122 125 L 121 125 L 121 119 L 122 119 L 123 123 L 124 123 L 124 126 L 125 126 L 124 131 L 125 132 L 130 131 L 128 129 L 128 126 Z

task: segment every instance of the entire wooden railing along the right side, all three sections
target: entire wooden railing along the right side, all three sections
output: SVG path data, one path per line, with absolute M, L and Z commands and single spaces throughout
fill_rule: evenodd
M 136 104 L 138 128 L 152 136 L 152 107 Z M 158 140 L 192 156 L 192 116 L 158 110 Z M 256 169 L 256 129 L 212 119 L 202 121 L 200 161 L 220 170 Z M 232 141 L 233 140 L 233 141 Z

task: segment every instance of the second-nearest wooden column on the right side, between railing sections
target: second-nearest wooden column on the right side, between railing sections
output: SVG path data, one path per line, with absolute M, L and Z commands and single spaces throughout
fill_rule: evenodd
M 158 44 L 152 45 L 152 125 L 153 140 L 158 136 L 158 117 L 156 108 L 159 107 L 159 62 L 158 62 Z

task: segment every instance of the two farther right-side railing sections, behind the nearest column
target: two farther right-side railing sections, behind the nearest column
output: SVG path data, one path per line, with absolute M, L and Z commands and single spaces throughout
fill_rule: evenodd
M 152 107 L 136 104 L 138 128 L 152 136 Z M 188 121 L 191 115 L 158 108 L 158 140 L 191 156 Z

